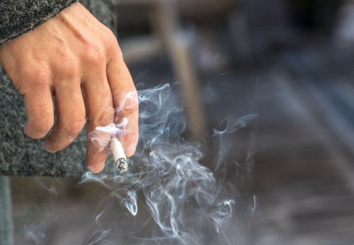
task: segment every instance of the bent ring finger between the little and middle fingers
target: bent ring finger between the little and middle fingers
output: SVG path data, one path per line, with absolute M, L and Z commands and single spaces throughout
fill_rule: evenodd
M 67 147 L 86 124 L 80 82 L 62 82 L 55 88 L 58 122 L 45 140 L 45 148 L 55 152 Z

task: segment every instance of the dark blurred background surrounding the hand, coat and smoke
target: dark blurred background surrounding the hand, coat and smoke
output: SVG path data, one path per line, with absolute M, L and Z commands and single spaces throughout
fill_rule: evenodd
M 223 119 L 258 115 L 233 145 L 251 172 L 226 176 L 240 193 L 236 244 L 354 243 L 354 1 L 121 0 L 116 13 L 136 85 L 175 84 L 203 165 Z M 65 242 L 68 217 L 78 241 L 107 193 L 77 181 L 12 178 L 17 244 L 36 244 L 24 227 L 53 203 L 66 218 L 46 220 L 46 244 L 81 244 Z

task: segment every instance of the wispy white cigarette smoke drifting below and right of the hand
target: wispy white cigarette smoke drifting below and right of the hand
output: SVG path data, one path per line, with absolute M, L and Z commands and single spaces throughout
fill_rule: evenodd
M 249 203 L 242 199 L 236 185 L 242 178 L 246 184 L 244 179 L 252 174 L 254 136 L 240 163 L 235 133 L 256 115 L 220 122 L 210 140 L 215 142 L 210 154 L 207 139 L 200 143 L 183 137 L 186 120 L 173 86 L 140 87 L 139 142 L 128 160 L 129 170 L 121 175 L 109 166 L 113 178 L 87 171 L 77 184 L 100 184 L 109 191 L 100 197 L 91 222 L 82 228 L 85 238 L 78 243 L 243 244 L 247 228 L 238 223 L 244 220 L 238 214 L 244 210 L 243 216 L 252 216 L 257 205 L 253 196 Z

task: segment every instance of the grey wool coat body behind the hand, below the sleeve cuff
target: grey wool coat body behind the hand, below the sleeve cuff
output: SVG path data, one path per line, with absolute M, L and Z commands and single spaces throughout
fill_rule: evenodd
M 5 2 L 59 3 L 58 0 L 0 0 L 1 20 L 4 19 Z M 64 1 L 61 2 L 64 3 Z M 69 6 L 70 2 L 75 1 L 66 1 L 66 6 Z M 81 0 L 80 4 L 116 33 L 117 20 L 114 2 L 115 0 Z M 4 26 L 1 21 L 0 26 L 1 28 Z M 34 27 L 34 25 L 31 26 Z M 1 33 L 1 38 L 3 38 L 3 30 Z M 50 153 L 43 148 L 44 139 L 31 139 L 25 136 L 23 127 L 26 121 L 23 96 L 18 93 L 11 79 L 0 66 L 0 176 L 80 178 L 86 168 L 86 129 L 84 128 L 74 142 L 64 150 Z M 103 173 L 110 174 L 114 168 L 113 157 L 110 154 Z

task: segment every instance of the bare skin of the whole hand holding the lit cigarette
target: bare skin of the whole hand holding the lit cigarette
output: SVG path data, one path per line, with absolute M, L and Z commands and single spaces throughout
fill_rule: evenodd
M 86 117 L 90 171 L 100 172 L 109 153 L 111 133 L 97 127 L 111 129 L 115 122 L 125 154 L 134 154 L 137 91 L 114 34 L 81 4 L 6 43 L 0 49 L 0 64 L 24 96 L 28 137 L 42 138 L 52 129 L 54 96 L 58 122 L 46 137 L 46 150 L 67 147 Z

